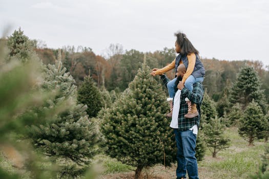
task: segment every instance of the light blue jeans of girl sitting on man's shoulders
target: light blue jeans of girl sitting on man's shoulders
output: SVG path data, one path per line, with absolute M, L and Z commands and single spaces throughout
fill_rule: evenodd
M 184 85 L 192 92 L 193 91 L 193 84 L 196 82 L 203 82 L 203 78 L 204 77 L 194 78 L 193 75 L 190 75 L 186 79 Z M 174 78 L 173 80 L 171 80 L 167 83 L 167 88 L 168 88 L 168 93 L 169 93 L 170 98 L 174 98 L 175 94 L 177 92 L 176 80 L 177 80 L 177 78 Z

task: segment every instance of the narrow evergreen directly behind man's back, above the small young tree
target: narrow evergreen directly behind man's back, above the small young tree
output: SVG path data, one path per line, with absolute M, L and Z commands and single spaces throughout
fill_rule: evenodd
M 208 93 L 204 93 L 203 102 L 201 105 L 201 123 L 208 123 L 211 118 L 217 115 L 215 102 L 209 97 Z

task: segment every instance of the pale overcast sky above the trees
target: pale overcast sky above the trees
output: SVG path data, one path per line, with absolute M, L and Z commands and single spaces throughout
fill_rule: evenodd
M 260 60 L 269 65 L 268 0 L 0 0 L 0 32 L 22 28 L 48 48 L 90 47 L 105 54 L 173 48 L 174 33 L 187 34 L 200 56 Z

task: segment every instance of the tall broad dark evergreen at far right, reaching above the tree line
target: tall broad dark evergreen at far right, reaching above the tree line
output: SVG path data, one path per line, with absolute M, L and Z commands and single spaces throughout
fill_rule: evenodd
M 240 103 L 245 109 L 252 99 L 262 107 L 264 113 L 267 112 L 258 74 L 252 66 L 245 65 L 240 69 L 236 82 L 232 86 L 230 102 Z

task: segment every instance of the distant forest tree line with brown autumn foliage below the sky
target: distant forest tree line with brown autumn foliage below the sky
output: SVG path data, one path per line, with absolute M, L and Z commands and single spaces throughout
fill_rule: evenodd
M 38 47 L 34 41 L 35 52 L 45 64 L 52 64 L 56 60 L 57 50 Z M 155 52 L 147 52 L 147 64 L 150 68 L 162 68 L 176 57 L 173 48 L 163 48 Z M 106 57 L 104 57 L 106 56 Z M 79 85 L 85 76 L 91 73 L 91 77 L 98 87 L 105 86 L 108 91 L 118 88 L 123 92 L 128 84 L 134 79 L 137 70 L 141 68 L 144 53 L 137 50 L 123 51 L 120 44 L 111 44 L 107 49 L 107 55 L 96 55 L 91 48 L 86 47 L 64 47 L 63 64 Z M 214 101 L 218 101 L 235 82 L 238 72 L 243 65 L 253 66 L 258 72 L 261 89 L 264 90 L 266 101 L 269 101 L 269 66 L 264 66 L 261 61 L 251 60 L 218 60 L 201 58 L 205 66 L 205 79 L 203 84 L 206 92 Z M 174 78 L 175 72 L 167 73 L 169 78 Z M 229 93 L 229 92 L 228 92 Z

